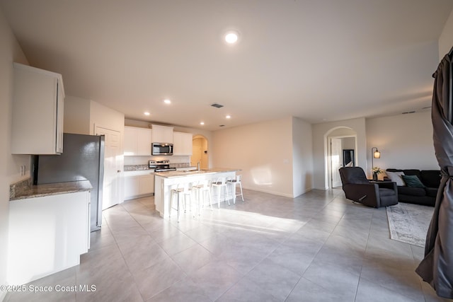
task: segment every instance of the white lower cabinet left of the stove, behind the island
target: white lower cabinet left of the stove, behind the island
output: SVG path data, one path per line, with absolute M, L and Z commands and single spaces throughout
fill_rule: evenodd
M 154 174 L 150 173 L 150 170 L 128 171 L 124 173 L 124 200 L 154 193 Z

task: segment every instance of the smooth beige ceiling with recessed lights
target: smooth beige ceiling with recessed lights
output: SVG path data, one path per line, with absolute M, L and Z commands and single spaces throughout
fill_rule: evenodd
M 319 123 L 427 110 L 453 1 L 0 0 L 0 7 L 30 65 L 62 74 L 67 95 L 134 120 L 217 130 L 288 116 Z M 222 40 L 231 29 L 239 31 L 234 46 Z

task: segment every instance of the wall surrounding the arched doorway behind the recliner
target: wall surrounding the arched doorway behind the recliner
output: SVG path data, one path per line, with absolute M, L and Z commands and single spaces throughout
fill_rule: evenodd
M 313 168 L 314 188 L 326 190 L 328 188 L 327 175 L 327 137 L 336 129 L 350 128 L 357 133 L 357 166 L 367 170 L 367 136 L 365 132 L 365 118 L 338 122 L 326 122 L 312 125 L 313 129 Z M 346 129 L 347 130 L 347 129 Z M 337 134 L 337 132 L 335 132 Z M 340 133 L 340 132 L 338 132 Z M 343 133 L 343 132 L 342 132 Z M 345 131 L 345 133 L 351 133 Z

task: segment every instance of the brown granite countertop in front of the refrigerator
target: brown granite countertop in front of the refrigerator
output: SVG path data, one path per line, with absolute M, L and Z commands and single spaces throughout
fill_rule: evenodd
M 74 182 L 57 182 L 46 185 L 30 185 L 27 183 L 14 184 L 10 186 L 9 200 L 43 197 L 56 194 L 76 193 L 92 190 L 89 180 L 79 180 Z

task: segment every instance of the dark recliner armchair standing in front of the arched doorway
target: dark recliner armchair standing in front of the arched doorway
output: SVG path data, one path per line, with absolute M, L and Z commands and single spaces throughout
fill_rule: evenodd
M 346 198 L 368 207 L 387 207 L 398 204 L 396 182 L 370 182 L 360 167 L 340 168 Z

